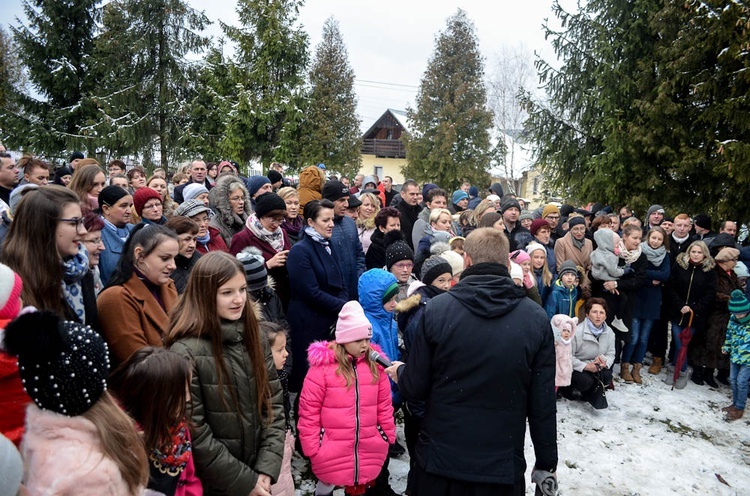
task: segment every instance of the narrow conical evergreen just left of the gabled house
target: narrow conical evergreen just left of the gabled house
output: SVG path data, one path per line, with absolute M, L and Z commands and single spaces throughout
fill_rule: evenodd
M 352 176 L 362 162 L 360 119 L 354 93 L 354 71 L 332 17 L 310 69 L 310 95 L 299 142 L 300 165 L 319 162 L 338 174 Z

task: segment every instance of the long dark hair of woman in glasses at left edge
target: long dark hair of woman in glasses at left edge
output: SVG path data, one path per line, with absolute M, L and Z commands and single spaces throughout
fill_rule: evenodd
M 16 208 L 0 261 L 23 280 L 21 298 L 26 305 L 67 315 L 62 293 L 62 259 L 55 232 L 65 207 L 78 204 L 75 193 L 50 185 L 30 190 Z

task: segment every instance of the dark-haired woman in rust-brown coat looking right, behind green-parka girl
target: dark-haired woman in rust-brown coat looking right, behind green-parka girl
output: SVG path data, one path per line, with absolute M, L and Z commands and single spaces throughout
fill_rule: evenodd
M 114 364 L 146 346 L 164 346 L 169 311 L 177 304 L 170 279 L 179 250 L 177 235 L 158 225 L 139 225 L 97 300 L 104 339 Z

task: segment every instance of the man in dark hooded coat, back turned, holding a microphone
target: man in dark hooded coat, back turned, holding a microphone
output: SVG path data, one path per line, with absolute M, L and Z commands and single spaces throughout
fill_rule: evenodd
M 532 479 L 556 488 L 550 322 L 510 278 L 500 231 L 476 229 L 464 249 L 461 281 L 425 307 L 408 363 L 387 369 L 405 399 L 426 401 L 412 494 L 525 494 L 527 420 Z

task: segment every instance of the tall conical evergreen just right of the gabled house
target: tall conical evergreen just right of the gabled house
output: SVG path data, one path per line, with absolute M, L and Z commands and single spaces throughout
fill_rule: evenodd
M 446 189 L 464 180 L 488 184 L 493 115 L 474 24 L 463 10 L 438 35 L 416 103 L 416 110 L 407 109 L 404 175 Z

